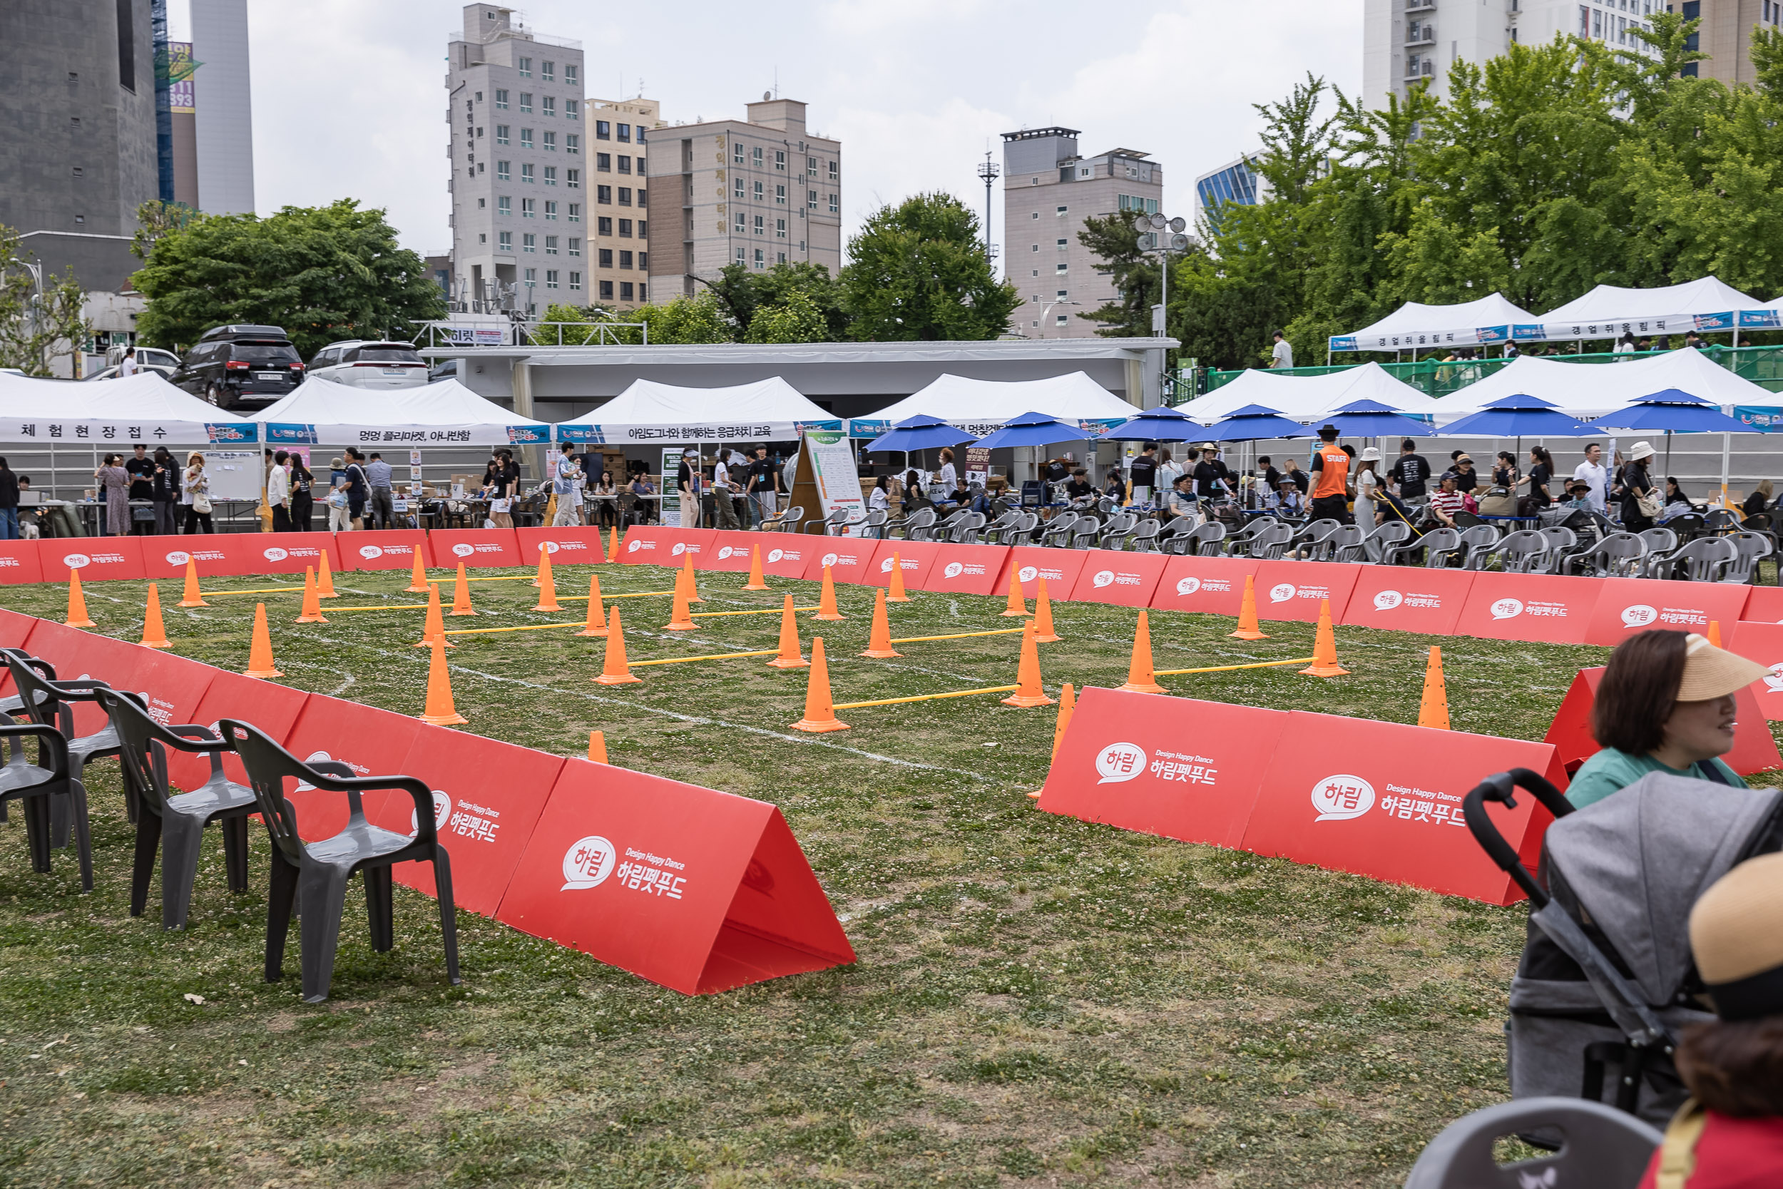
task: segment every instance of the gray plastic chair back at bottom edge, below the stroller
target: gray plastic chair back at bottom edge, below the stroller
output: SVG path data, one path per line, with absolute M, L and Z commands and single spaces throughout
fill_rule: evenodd
M 1492 1159 L 1503 1136 L 1558 1132 L 1553 1155 Z M 1466 1114 L 1430 1141 L 1405 1189 L 1635 1189 L 1664 1136 L 1631 1114 L 1583 1098 L 1519 1098 Z

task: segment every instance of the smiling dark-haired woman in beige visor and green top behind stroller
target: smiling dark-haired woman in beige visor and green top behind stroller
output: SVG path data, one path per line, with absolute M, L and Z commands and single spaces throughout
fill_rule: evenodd
M 1719 758 L 1733 749 L 1733 695 L 1771 670 L 1696 633 L 1642 631 L 1610 652 L 1590 708 L 1603 750 L 1573 775 L 1567 800 L 1583 809 L 1647 772 L 1746 788 Z

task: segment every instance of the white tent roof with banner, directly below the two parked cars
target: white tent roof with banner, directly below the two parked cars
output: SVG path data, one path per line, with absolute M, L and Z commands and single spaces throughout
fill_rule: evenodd
M 551 424 L 487 401 L 456 380 L 355 389 L 317 376 L 253 415 L 269 446 L 506 446 L 549 442 Z

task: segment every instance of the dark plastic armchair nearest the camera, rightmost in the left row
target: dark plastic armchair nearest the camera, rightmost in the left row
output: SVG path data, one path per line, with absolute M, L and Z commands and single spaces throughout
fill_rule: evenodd
M 380 954 L 396 948 L 390 866 L 419 861 L 433 865 L 446 977 L 456 986 L 458 922 L 453 916 L 451 859 L 433 829 L 433 791 L 426 783 L 412 775 L 355 777 L 349 767 L 337 761 L 307 765 L 257 727 L 234 718 L 225 718 L 218 729 L 241 756 L 260 818 L 273 836 L 273 888 L 266 904 L 266 980 L 278 982 L 283 977 L 285 934 L 291 931 L 292 902 L 298 902 L 303 911 L 303 1002 L 321 1004 L 328 998 L 335 947 L 341 943 L 341 914 L 346 909 L 346 884 L 355 872 L 366 881 L 371 948 Z M 333 838 L 303 841 L 298 836 L 296 809 L 285 800 L 285 777 L 296 777 L 317 791 L 346 793 L 349 813 L 346 829 Z M 380 790 L 401 790 L 414 799 L 414 834 L 396 834 L 366 820 L 360 795 Z

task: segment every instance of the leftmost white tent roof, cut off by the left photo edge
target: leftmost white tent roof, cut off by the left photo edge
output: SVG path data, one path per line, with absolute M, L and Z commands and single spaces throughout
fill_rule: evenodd
M 89 383 L 0 374 L 0 442 L 127 449 L 257 440 L 253 421 L 175 389 L 160 373 Z

